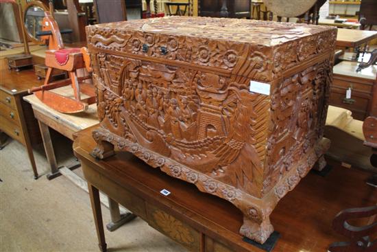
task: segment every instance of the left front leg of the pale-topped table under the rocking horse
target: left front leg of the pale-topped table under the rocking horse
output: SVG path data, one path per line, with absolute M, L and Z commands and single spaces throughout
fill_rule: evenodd
M 45 147 L 47 161 L 49 162 L 51 172 L 47 174 L 47 179 L 51 180 L 60 175 L 58 170 L 58 164 L 56 163 L 55 153 L 53 152 L 53 145 L 51 141 L 51 135 L 49 126 L 38 120 L 40 135 L 42 135 L 43 146 Z

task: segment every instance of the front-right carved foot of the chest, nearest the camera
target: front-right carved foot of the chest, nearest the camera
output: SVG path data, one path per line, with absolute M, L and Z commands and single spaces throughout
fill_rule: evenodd
M 254 220 L 243 217 L 243 225 L 239 232 L 241 235 L 263 244 L 273 232 L 273 226 L 271 225 L 271 222 L 269 222 L 269 218 L 258 223 Z

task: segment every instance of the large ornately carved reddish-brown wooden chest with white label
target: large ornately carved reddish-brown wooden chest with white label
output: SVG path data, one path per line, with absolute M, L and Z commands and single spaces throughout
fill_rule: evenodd
M 280 198 L 324 161 L 337 30 L 175 16 L 86 32 L 101 122 L 93 154 L 132 152 L 230 201 L 240 233 L 265 242 Z

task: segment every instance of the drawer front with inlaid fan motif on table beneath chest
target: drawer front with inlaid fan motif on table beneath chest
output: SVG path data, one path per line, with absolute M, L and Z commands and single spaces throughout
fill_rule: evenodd
M 148 224 L 165 236 L 182 244 L 190 251 L 200 251 L 200 233 L 182 220 L 178 220 L 166 211 L 158 209 L 154 205 L 147 205 Z

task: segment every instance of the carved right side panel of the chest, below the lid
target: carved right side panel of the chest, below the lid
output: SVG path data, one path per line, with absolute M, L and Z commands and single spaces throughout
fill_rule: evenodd
M 327 59 L 273 87 L 263 194 L 323 137 L 331 67 L 332 62 Z

